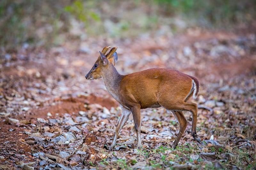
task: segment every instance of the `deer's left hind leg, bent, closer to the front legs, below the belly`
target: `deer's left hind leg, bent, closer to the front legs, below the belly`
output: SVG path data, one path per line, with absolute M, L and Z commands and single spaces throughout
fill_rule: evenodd
M 179 131 L 175 141 L 172 144 L 172 148 L 175 149 L 176 146 L 178 145 L 180 138 L 182 137 L 187 125 L 188 125 L 188 122 L 185 119 L 185 117 L 181 111 L 172 111 L 172 114 L 178 120 L 178 122 L 180 124 L 180 131 Z

